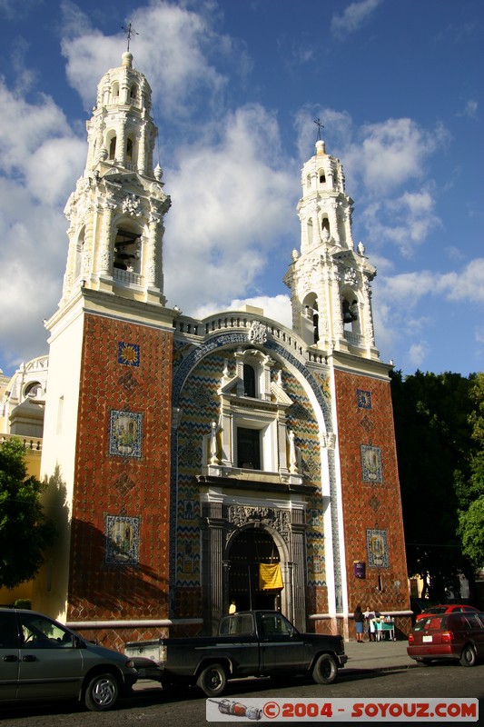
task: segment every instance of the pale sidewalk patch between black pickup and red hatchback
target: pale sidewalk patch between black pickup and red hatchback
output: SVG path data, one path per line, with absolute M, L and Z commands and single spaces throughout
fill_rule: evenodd
M 408 669 L 417 666 L 414 659 L 407 654 L 407 641 L 380 642 L 355 641 L 345 642 L 344 651 L 348 654 L 348 662 L 344 670 L 354 669 L 388 671 L 392 669 Z

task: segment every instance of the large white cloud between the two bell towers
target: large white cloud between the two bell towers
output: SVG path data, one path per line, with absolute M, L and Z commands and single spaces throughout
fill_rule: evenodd
M 185 313 L 200 300 L 220 308 L 246 293 L 271 250 L 297 234 L 295 168 L 281 154 L 275 117 L 260 105 L 227 115 L 211 143 L 180 149 L 164 178 L 173 197 L 165 288 Z

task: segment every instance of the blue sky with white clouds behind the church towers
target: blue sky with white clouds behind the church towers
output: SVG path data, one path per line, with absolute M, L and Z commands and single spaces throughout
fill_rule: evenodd
M 484 371 L 482 0 L 0 0 L 0 369 L 48 353 L 64 205 L 108 68 L 153 89 L 172 198 L 164 293 L 196 317 L 249 303 L 290 325 L 315 119 L 341 159 L 382 361 Z

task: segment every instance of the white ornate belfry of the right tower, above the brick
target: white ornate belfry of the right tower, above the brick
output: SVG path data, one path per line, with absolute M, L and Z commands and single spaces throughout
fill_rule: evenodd
M 370 283 L 376 269 L 351 233 L 353 200 L 345 193 L 342 164 L 316 142 L 301 171 L 301 253 L 292 252 L 284 277 L 291 289 L 292 326 L 309 345 L 379 359 Z

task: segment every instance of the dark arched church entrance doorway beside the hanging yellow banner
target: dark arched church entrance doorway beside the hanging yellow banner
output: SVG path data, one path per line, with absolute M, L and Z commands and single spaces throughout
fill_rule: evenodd
M 281 611 L 282 588 L 262 589 L 259 584 L 261 563 L 280 563 L 272 535 L 261 528 L 246 528 L 232 542 L 229 552 L 229 603 L 237 611 L 276 609 Z

